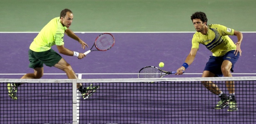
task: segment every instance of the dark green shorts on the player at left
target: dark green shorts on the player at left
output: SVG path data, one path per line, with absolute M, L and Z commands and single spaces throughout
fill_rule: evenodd
M 37 67 L 43 67 L 43 64 L 52 67 L 56 63 L 58 63 L 62 57 L 57 52 L 50 49 L 44 52 L 35 52 L 32 50 L 28 50 L 28 58 L 30 61 L 28 67 L 35 69 Z

